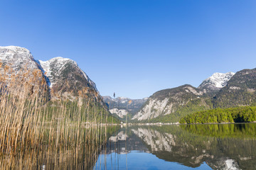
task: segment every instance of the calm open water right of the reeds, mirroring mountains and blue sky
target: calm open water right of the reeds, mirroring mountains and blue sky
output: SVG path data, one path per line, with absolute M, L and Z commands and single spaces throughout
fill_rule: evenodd
M 256 124 L 121 128 L 94 169 L 256 169 Z

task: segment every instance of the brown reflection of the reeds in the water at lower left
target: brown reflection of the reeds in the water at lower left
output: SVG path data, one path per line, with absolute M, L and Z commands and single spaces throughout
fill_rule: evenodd
M 4 157 L 0 169 L 92 169 L 107 141 L 107 128 L 80 128 L 80 137 L 73 127 L 65 130 L 73 134 L 67 138 L 76 142 L 58 147 L 45 142 L 28 152 Z

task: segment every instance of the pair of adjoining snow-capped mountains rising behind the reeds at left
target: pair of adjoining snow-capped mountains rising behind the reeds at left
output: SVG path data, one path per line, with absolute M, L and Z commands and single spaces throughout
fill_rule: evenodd
M 7 46 L 0 47 L 0 60 L 3 65 L 11 67 L 14 72 L 23 71 L 23 69 L 33 72 L 34 69 L 40 69 L 48 81 L 50 90 L 54 92 L 51 93 L 52 95 L 68 91 L 71 96 L 75 96 L 85 87 L 98 93 L 95 83 L 78 67 L 76 62 L 68 58 L 55 57 L 43 62 L 35 60 L 26 48 Z

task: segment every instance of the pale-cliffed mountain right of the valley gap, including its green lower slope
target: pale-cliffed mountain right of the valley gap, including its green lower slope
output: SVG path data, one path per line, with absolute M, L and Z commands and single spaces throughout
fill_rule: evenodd
M 203 96 L 203 91 L 185 84 L 173 89 L 157 91 L 149 97 L 132 120 L 177 122 L 183 115 L 209 108 L 211 108 L 210 100 Z

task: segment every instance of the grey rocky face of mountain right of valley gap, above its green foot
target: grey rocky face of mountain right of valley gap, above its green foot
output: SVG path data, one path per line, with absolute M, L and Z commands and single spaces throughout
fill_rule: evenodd
M 157 91 L 149 97 L 148 101 L 146 101 L 141 110 L 134 115 L 132 120 L 150 120 L 159 116 L 170 115 L 190 105 L 208 107 L 208 104 L 202 100 L 203 98 L 203 91 L 188 84 L 174 89 Z M 186 112 L 186 110 L 184 110 L 184 112 Z M 181 113 L 181 115 L 182 114 L 183 113 Z

